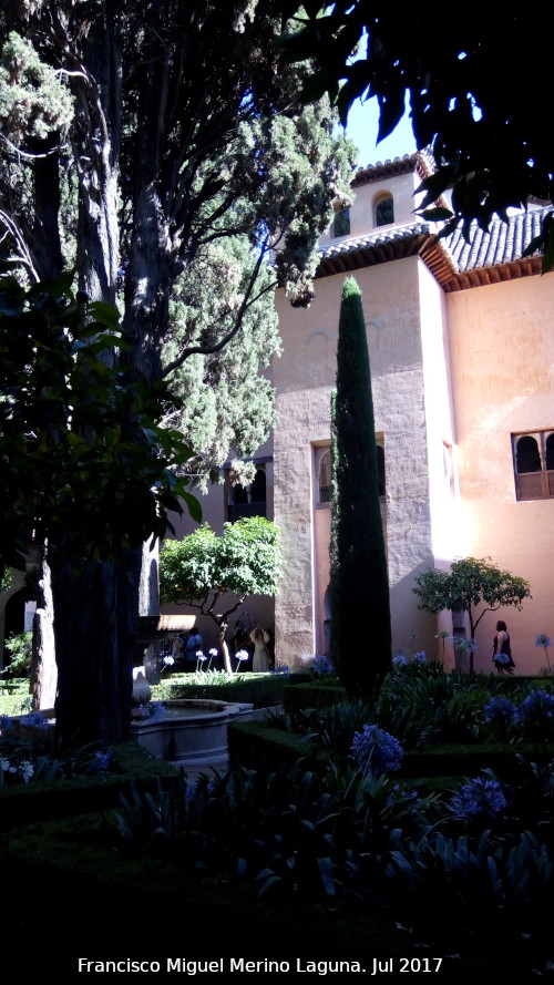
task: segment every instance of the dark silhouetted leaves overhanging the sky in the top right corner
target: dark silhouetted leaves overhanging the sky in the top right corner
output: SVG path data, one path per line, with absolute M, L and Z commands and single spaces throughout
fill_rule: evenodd
M 296 7 L 291 0 L 290 13 Z M 463 223 L 468 236 L 473 219 L 486 229 L 494 214 L 506 218 L 510 207 L 525 206 L 530 197 L 552 202 L 554 196 L 541 100 L 527 99 L 522 88 L 530 79 L 536 92 L 550 89 L 552 10 L 532 45 L 523 43 L 529 27 L 523 8 L 499 19 L 485 4 L 476 19 L 459 18 L 455 29 L 445 31 L 444 11 L 435 3 L 412 3 L 399 18 L 394 7 L 366 0 L 307 0 L 286 52 L 287 59 L 314 59 L 305 96 L 329 92 L 343 122 L 355 99 L 377 98 L 379 138 L 394 130 L 409 96 L 417 146 L 431 145 L 438 165 L 421 186 L 423 216 L 447 218 L 442 235 Z M 448 189 L 450 208 L 440 198 Z M 550 270 L 552 214 L 529 252 L 537 248 L 544 253 L 543 270 Z

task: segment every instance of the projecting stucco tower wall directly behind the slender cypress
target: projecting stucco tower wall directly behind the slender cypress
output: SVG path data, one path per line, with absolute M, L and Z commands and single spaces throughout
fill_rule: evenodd
M 442 293 L 418 257 L 360 269 L 356 278 L 368 329 L 376 431 L 384 449 L 393 650 L 432 654 L 435 620 L 418 611 L 412 588 L 414 574 L 438 560 L 433 541 L 445 556 L 452 534 L 443 461 L 453 427 Z M 329 506 L 317 503 L 314 455 L 330 440 L 343 280 L 342 275 L 318 280 L 308 310 L 290 311 L 280 291 L 277 298 L 285 355 L 274 367 L 275 520 L 286 563 L 276 640 L 289 664 L 315 655 L 326 639 L 330 519 Z M 442 512 L 432 513 L 433 500 L 443 503 Z

